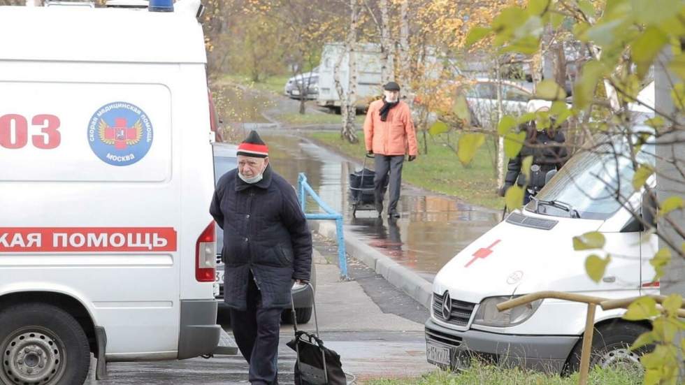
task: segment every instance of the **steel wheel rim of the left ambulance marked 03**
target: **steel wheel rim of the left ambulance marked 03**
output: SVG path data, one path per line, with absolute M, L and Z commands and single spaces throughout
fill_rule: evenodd
M 66 368 L 66 351 L 51 330 L 30 326 L 3 342 L 0 378 L 9 384 L 55 384 Z

